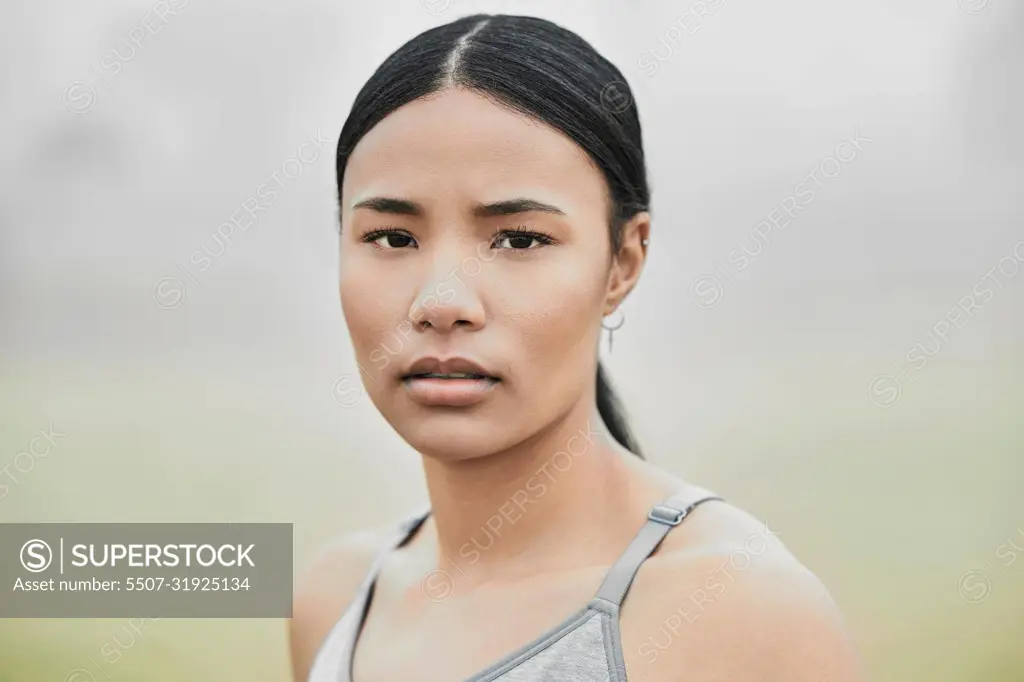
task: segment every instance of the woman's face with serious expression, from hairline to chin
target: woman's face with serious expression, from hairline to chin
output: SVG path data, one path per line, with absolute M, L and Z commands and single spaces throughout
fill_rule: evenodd
M 413 447 L 486 455 L 593 401 L 601 318 L 639 263 L 609 267 L 607 186 L 570 139 L 446 90 L 359 140 L 341 196 L 362 383 Z

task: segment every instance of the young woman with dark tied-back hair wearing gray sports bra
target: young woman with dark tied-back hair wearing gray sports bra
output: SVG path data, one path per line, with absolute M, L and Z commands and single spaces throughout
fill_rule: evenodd
M 651 227 L 618 70 L 539 18 L 431 29 L 359 92 L 337 172 L 362 383 L 430 505 L 304 572 L 297 682 L 859 679 L 818 581 L 641 458 L 598 365 Z

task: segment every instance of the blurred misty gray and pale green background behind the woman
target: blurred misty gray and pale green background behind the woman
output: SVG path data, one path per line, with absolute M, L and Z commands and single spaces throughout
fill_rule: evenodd
M 1024 680 L 1019 0 L 8 3 L 0 520 L 292 522 L 300 571 L 426 500 L 344 385 L 332 159 L 477 11 L 633 87 L 654 229 L 605 363 L 650 459 L 766 519 L 872 679 Z M 0 621 L 0 681 L 288 679 L 287 621 L 131 625 Z

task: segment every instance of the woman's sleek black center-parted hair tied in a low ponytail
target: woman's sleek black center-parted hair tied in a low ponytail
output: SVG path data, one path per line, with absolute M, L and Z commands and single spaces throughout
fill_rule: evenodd
M 532 16 L 474 14 L 429 29 L 399 47 L 359 90 L 338 139 L 338 200 L 348 156 L 384 117 L 459 86 L 561 131 L 607 181 L 611 253 L 623 225 L 650 202 L 640 120 L 622 73 L 587 41 Z M 597 408 L 612 437 L 643 457 L 598 361 Z

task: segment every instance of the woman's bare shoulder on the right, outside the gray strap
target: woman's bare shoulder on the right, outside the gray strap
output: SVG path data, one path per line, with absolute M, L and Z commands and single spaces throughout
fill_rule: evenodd
M 641 566 L 623 606 L 637 680 L 862 679 L 839 609 L 776 528 L 730 504 L 697 507 Z M 634 679 L 634 670 L 630 671 Z

